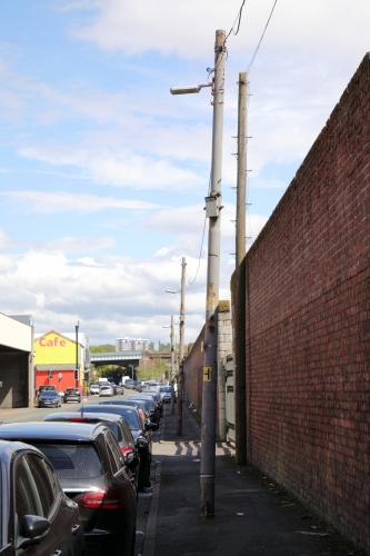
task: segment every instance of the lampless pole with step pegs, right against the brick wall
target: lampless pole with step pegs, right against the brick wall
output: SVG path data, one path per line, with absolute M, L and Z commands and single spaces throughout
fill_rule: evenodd
M 247 181 L 247 72 L 239 73 L 238 181 L 236 235 L 236 461 L 247 465 L 246 408 L 246 181 Z

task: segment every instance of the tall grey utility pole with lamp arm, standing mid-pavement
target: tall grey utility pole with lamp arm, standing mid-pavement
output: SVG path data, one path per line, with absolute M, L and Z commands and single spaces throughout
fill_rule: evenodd
M 200 516 L 214 516 L 214 468 L 216 468 L 216 388 L 217 388 L 217 308 L 220 279 L 220 231 L 221 231 L 221 165 L 224 93 L 226 33 L 216 31 L 214 78 L 213 78 L 213 131 L 211 192 L 206 198 L 206 215 L 209 218 L 208 270 L 206 299 L 204 366 L 201 426 L 200 464 Z

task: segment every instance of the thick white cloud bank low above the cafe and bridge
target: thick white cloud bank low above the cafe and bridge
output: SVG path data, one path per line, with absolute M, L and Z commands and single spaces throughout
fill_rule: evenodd
M 2 310 L 33 314 L 37 332 L 68 331 L 79 319 L 93 341 L 112 341 L 121 334 L 159 339 L 169 315 L 179 312 L 180 300 L 164 290 L 179 284 L 180 262 L 180 257 L 164 257 L 160 264 L 154 257 L 84 257 L 77 262 L 62 252 L 30 251 L 10 258 L 7 272 L 0 274 Z M 188 269 L 194 265 L 189 258 Z M 187 341 L 197 337 L 203 320 L 203 284 L 199 279 L 188 288 Z

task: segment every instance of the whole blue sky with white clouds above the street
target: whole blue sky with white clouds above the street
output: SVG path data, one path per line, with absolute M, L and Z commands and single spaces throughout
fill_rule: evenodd
M 272 0 L 247 2 L 228 41 L 220 298 L 233 270 L 238 73 Z M 92 344 L 166 339 L 167 296 L 192 281 L 210 171 L 212 67 L 239 0 L 12 0 L 0 6 L 0 286 L 39 334 L 80 320 Z M 366 0 L 278 0 L 249 76 L 248 236 L 279 202 L 366 51 Z M 187 288 L 202 326 L 206 248 Z

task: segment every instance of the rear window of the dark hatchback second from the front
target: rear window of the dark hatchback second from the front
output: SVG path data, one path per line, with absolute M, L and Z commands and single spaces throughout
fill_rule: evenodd
M 47 456 L 59 479 L 101 477 L 104 471 L 91 444 L 32 443 Z

